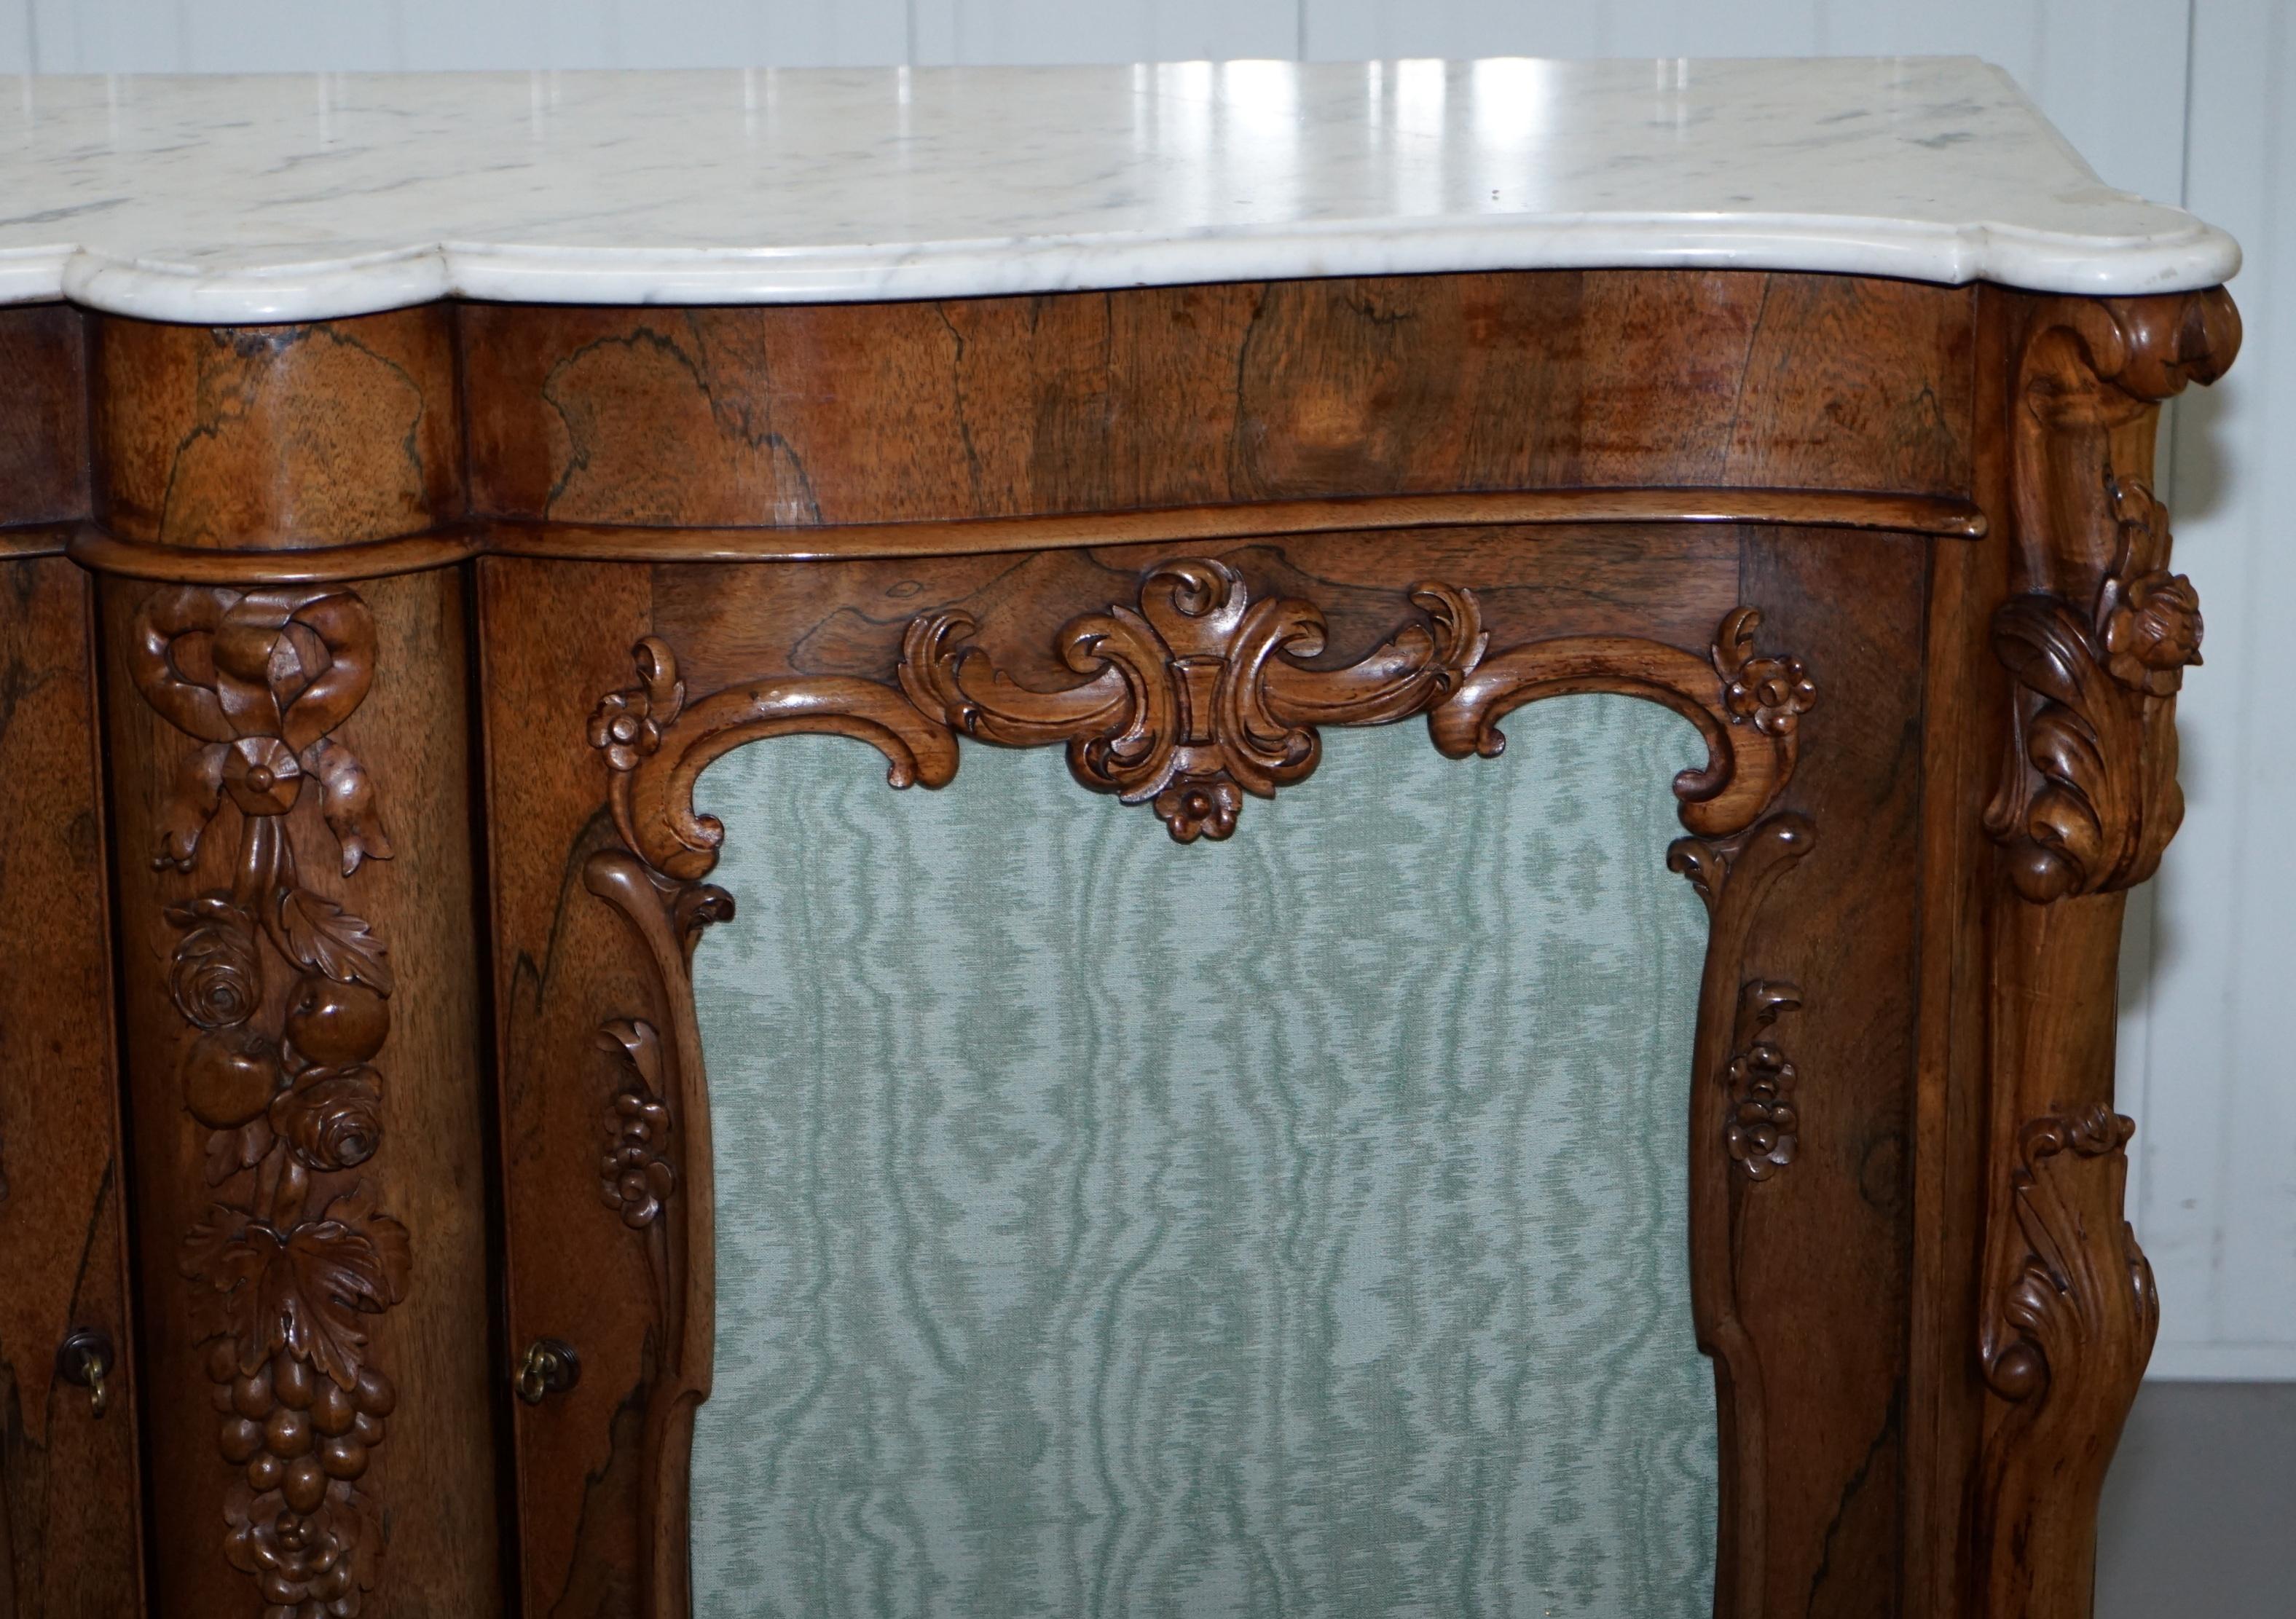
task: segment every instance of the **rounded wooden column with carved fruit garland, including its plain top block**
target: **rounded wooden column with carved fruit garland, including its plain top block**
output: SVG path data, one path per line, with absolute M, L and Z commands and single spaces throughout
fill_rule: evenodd
M 90 328 L 156 1612 L 491 1614 L 452 312 Z

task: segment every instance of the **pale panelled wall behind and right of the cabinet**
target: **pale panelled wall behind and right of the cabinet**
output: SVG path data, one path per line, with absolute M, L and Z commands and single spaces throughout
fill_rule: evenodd
M 0 73 L 1396 55 L 1975 53 L 2112 184 L 2248 248 L 2239 367 L 2174 406 L 2186 831 L 2131 909 L 2122 1107 L 2156 1378 L 2296 1380 L 2296 7 L 2287 0 L 0 0 Z M 30 94 L 25 87 L 23 94 Z M 5 209 L 5 204 L 0 204 Z

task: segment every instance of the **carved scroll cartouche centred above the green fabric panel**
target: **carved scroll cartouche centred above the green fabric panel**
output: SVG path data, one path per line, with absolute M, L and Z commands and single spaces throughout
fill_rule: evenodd
M 1348 668 L 1311 668 L 1325 648 L 1313 602 L 1254 602 L 1242 574 L 1210 558 L 1148 570 L 1139 606 L 1109 606 L 1058 636 L 1086 675 L 1031 691 L 967 645 L 964 613 L 909 625 L 900 689 L 925 714 L 1008 746 L 1068 744 L 1086 788 L 1148 804 L 1180 843 L 1226 838 L 1244 792 L 1274 797 L 1322 758 L 1318 726 L 1378 726 L 1449 698 L 1483 657 L 1483 615 L 1467 590 L 1412 586 L 1426 613 Z

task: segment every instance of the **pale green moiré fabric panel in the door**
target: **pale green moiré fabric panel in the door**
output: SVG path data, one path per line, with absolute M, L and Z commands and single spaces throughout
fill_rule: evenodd
M 712 1619 L 1713 1610 L 1690 1330 L 1704 758 L 1421 726 L 1173 845 L 1056 749 L 739 749 L 696 962 Z

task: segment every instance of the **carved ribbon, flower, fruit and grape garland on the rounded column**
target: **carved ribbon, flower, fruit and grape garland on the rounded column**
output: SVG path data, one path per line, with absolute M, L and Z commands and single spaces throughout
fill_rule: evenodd
M 406 1295 L 406 1226 L 356 1176 L 381 1148 L 374 1059 L 390 1029 L 390 955 L 296 868 L 287 820 L 310 785 L 342 877 L 386 859 L 374 788 L 335 735 L 374 680 L 374 622 L 344 588 L 158 590 L 129 673 L 200 746 L 184 758 L 154 863 L 191 870 L 230 804 L 227 889 L 168 912 L 168 987 L 195 1031 L 179 1075 L 207 1132 L 216 1201 L 179 1270 L 211 1339 L 218 1449 L 239 1470 L 225 1557 L 269 1614 L 356 1614 L 383 1552 L 360 1481 L 397 1392 L 374 1318 Z

